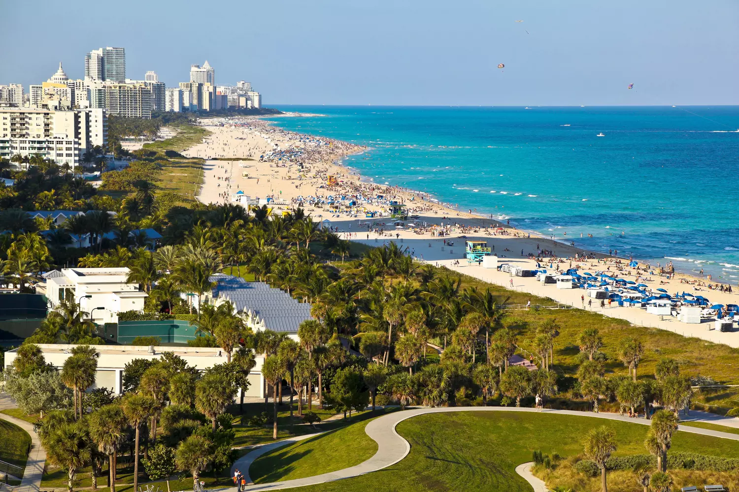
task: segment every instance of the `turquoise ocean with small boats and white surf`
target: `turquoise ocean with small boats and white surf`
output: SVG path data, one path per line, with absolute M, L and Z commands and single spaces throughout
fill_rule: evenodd
M 364 179 L 739 280 L 738 106 L 277 107 L 320 115 L 273 118 L 281 128 L 367 145 L 344 160 Z

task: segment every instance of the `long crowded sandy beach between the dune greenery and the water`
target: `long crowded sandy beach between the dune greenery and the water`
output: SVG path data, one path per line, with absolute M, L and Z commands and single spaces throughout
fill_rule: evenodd
M 626 258 L 589 252 L 573 243 L 517 230 L 497 218 L 483 218 L 449 207 L 426 193 L 362 181 L 361 176 L 340 163 L 345 156 L 363 152 L 365 148 L 359 145 L 285 131 L 258 117 L 200 119 L 199 123 L 212 133 L 184 154 L 206 159 L 205 179 L 198 195 L 202 203 L 236 202 L 245 206 L 269 203 L 273 213 L 303 207 L 346 239 L 370 246 L 395 240 L 420 261 L 447 266 L 486 282 L 589 308 L 638 325 L 739 347 L 739 332 L 709 330 L 712 323 L 688 324 L 674 317 L 661 319 L 638 308 L 601 308 L 599 302 L 589 306 L 588 297 L 582 302 L 582 295 L 586 294 L 582 289 L 557 289 L 553 285 L 541 285 L 534 278 L 511 277 L 505 272 L 468 264 L 463 259 L 466 239 L 460 236 L 487 240 L 501 262 L 522 268 L 537 268 L 535 258 L 539 257 L 540 263 L 544 263 L 542 268 L 566 271 L 579 267 L 583 271 L 613 272 L 629 280 L 636 280 L 639 275 L 638 283 L 653 290 L 664 288 L 670 294 L 685 291 L 703 295 L 712 304 L 738 304 L 739 293 L 708 288 L 705 279 L 686 274 L 675 273 L 670 279 L 658 271 L 645 274 L 644 263 L 637 272 L 627 266 Z M 393 204 L 406 209 L 409 218 L 404 221 L 392 218 Z M 655 265 L 650 266 L 650 271 L 655 269 Z

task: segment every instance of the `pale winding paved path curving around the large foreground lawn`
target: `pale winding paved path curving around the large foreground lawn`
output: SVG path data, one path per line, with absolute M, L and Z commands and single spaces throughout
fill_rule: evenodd
M 417 415 L 424 415 L 429 413 L 446 413 L 446 412 L 539 412 L 543 414 L 559 414 L 559 415 L 577 415 L 579 417 L 594 417 L 602 418 L 606 420 L 621 420 L 622 422 L 630 423 L 641 423 L 644 426 L 650 425 L 650 420 L 643 418 L 632 418 L 622 417 L 618 414 L 611 413 L 593 413 L 593 412 L 576 412 L 573 410 L 537 410 L 532 408 L 508 408 L 505 406 L 456 406 L 456 407 L 443 407 L 443 408 L 420 408 L 405 410 L 403 412 L 393 412 L 381 417 L 370 420 L 365 427 L 364 432 L 375 440 L 378 444 L 378 450 L 375 455 L 369 460 L 359 463 L 358 465 L 351 466 L 350 468 L 344 468 L 343 470 L 333 471 L 327 474 L 316 475 L 315 477 L 306 477 L 302 479 L 284 480 L 282 482 L 271 482 L 250 485 L 246 491 L 273 491 L 282 488 L 293 488 L 293 487 L 304 487 L 306 485 L 316 485 L 319 483 L 333 482 L 334 480 L 340 480 L 350 477 L 357 477 L 358 475 L 368 474 L 372 471 L 378 471 L 388 466 L 395 465 L 395 463 L 403 460 L 411 450 L 411 445 L 401 437 L 398 432 L 395 431 L 395 427 L 398 423 L 406 420 L 410 417 Z M 698 427 L 678 426 L 678 430 L 684 432 L 690 432 L 692 434 L 701 434 L 707 436 L 723 437 L 725 439 L 731 439 L 739 441 L 739 434 L 729 434 L 728 432 L 718 432 L 710 429 L 700 429 Z M 294 443 L 297 440 L 305 439 L 307 437 L 313 437 L 317 434 L 310 434 L 307 436 L 292 437 L 290 439 L 278 441 L 268 446 L 262 446 L 261 448 L 251 451 L 251 453 L 245 455 L 240 460 L 234 463 L 234 468 L 239 468 L 242 473 L 248 471 L 248 466 L 256 460 L 257 457 L 265 454 L 271 449 L 278 448 L 279 446 L 285 446 L 285 444 Z M 233 469 L 232 468 L 232 473 Z M 520 474 L 526 478 L 525 475 Z M 526 478 L 528 480 L 528 478 Z M 529 483 L 532 483 L 529 480 Z M 532 483 L 532 486 L 533 483 Z M 236 488 L 223 489 L 231 492 L 235 492 Z M 534 488 L 536 492 L 539 492 Z

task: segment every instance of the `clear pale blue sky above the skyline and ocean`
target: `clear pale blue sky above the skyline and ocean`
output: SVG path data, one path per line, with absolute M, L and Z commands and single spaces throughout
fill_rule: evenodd
M 154 70 L 176 86 L 207 59 L 217 83 L 248 80 L 266 105 L 739 104 L 737 0 L 0 7 L 0 83 L 41 83 L 60 60 L 83 77 L 86 52 L 123 46 L 128 77 Z

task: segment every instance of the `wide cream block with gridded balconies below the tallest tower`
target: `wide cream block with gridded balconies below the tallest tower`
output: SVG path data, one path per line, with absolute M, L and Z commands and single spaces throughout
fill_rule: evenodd
M 151 118 L 151 89 L 145 83 L 90 82 L 90 106 L 126 118 Z

